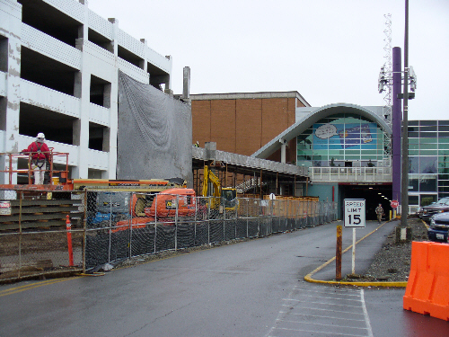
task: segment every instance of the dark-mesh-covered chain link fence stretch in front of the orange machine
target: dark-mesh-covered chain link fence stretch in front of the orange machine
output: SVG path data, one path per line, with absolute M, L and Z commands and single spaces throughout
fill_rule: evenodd
M 88 192 L 85 269 L 138 255 L 292 231 L 337 218 L 335 202 Z

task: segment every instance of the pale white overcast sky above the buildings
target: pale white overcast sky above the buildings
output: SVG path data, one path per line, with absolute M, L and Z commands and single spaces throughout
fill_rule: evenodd
M 89 0 L 104 18 L 163 55 L 172 89 L 297 91 L 311 106 L 383 105 L 384 14 L 403 58 L 405 0 Z M 409 65 L 418 76 L 409 120 L 449 120 L 449 1 L 409 0 Z M 402 59 L 403 67 L 403 59 Z

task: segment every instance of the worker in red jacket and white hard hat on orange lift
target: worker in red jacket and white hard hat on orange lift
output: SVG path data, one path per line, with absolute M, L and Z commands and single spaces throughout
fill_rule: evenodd
M 34 183 L 41 185 L 44 183 L 45 170 L 47 169 L 47 162 L 50 160 L 50 150 L 47 144 L 44 143 L 45 135 L 40 132 L 36 140 L 22 150 L 22 154 L 31 155 L 31 169 L 34 172 Z

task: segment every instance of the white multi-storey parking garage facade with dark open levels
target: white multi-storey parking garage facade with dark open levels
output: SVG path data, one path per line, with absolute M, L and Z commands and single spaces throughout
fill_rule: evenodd
M 18 153 L 44 132 L 49 147 L 68 153 L 71 178 L 115 179 L 119 71 L 172 93 L 172 58 L 87 0 L 0 0 L 0 152 Z M 7 170 L 8 157 L 0 161 Z

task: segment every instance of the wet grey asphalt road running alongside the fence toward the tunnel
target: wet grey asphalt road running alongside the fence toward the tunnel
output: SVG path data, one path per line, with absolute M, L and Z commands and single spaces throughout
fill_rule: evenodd
M 376 226 L 357 229 L 357 239 Z M 378 249 L 387 229 L 371 235 L 365 250 L 361 244 L 357 268 L 369 265 L 364 252 Z M 402 309 L 403 288 L 304 282 L 334 256 L 335 233 L 334 223 L 102 277 L 0 286 L 0 336 L 449 335 L 448 322 Z

